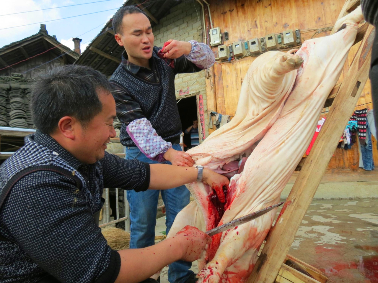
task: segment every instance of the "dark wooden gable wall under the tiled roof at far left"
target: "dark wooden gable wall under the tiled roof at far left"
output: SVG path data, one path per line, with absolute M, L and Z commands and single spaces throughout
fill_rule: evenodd
M 56 67 L 56 66 L 67 65 L 67 63 L 65 63 L 63 56 L 54 60 L 54 58 L 56 57 L 57 55 L 53 52 L 47 52 L 45 54 L 41 54 L 37 57 L 21 62 L 17 65 L 11 66 L 10 68 L 0 70 L 0 76 L 10 76 L 11 73 L 23 73 L 23 72 L 28 71 L 25 74 L 23 74 L 23 77 L 34 78 L 40 73 L 45 73 L 47 69 L 53 66 Z M 49 62 L 49 63 L 46 63 L 46 62 Z

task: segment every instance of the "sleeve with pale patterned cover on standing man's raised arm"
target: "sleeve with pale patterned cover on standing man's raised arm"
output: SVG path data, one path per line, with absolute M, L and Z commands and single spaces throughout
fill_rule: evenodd
M 215 56 L 209 46 L 204 43 L 189 41 L 192 50 L 189 55 L 174 59 L 174 69 L 177 74 L 194 73 L 210 68 L 215 63 Z

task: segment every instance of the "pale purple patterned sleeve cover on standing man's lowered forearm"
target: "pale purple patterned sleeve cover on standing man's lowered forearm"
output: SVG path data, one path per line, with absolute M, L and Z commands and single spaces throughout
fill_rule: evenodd
M 135 145 L 151 160 L 165 161 L 163 155 L 172 148 L 172 143 L 163 140 L 146 118 L 136 119 L 126 127 Z

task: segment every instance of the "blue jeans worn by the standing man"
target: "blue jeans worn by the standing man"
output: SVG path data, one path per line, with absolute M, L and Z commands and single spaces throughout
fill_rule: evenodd
M 180 145 L 174 144 L 173 149 L 181 150 Z M 137 147 L 126 147 L 126 159 L 138 159 L 154 164 Z M 169 161 L 164 162 L 171 164 Z M 178 212 L 189 204 L 190 193 L 185 186 L 173 189 L 161 190 L 166 207 L 166 233 L 175 220 Z M 130 204 L 130 249 L 146 248 L 155 244 L 155 226 L 158 207 L 159 190 L 147 190 L 145 192 L 127 191 L 127 201 Z M 192 263 L 176 261 L 169 265 L 168 280 L 170 283 L 184 283 L 193 273 L 189 270 Z

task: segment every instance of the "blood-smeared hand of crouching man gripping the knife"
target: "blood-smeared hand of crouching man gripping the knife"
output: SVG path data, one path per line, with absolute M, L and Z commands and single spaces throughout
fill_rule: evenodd
M 183 251 L 181 260 L 197 260 L 207 245 L 211 243 L 211 237 L 192 226 L 185 226 L 176 235 L 175 238 L 180 242 Z

